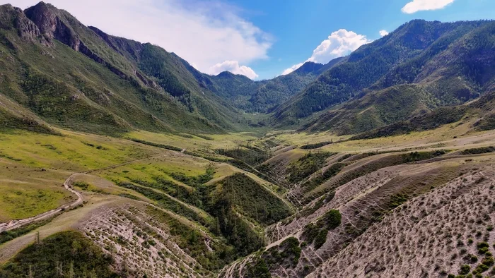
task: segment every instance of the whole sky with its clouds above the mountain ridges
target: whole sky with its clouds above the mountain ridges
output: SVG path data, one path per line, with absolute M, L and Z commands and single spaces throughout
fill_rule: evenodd
M 28 8 L 39 0 L 0 0 Z M 45 0 L 110 35 L 157 44 L 204 73 L 252 79 L 327 63 L 409 20 L 495 19 L 495 0 Z M 313 52 L 315 51 L 315 52 Z

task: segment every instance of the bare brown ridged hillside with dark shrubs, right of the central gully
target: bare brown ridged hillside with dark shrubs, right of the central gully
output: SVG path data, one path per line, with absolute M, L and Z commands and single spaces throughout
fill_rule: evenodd
M 445 220 L 445 215 L 448 212 L 440 211 L 448 203 L 465 203 L 464 207 L 459 207 L 458 210 L 451 212 L 451 217 L 459 219 L 455 229 L 450 227 L 452 237 L 457 236 L 455 233 L 460 233 L 467 241 L 468 236 L 474 238 L 475 234 L 479 234 L 478 231 L 482 231 L 482 234 L 487 231 L 487 223 L 491 222 L 491 216 L 487 217 L 487 213 L 491 213 L 491 209 L 481 210 L 480 207 L 491 207 L 494 201 L 491 198 L 494 198 L 492 196 L 495 195 L 491 192 L 492 189 L 486 189 L 493 188 L 493 182 L 484 177 L 484 172 L 479 170 L 491 169 L 490 167 L 483 168 L 484 165 L 487 165 L 487 162 L 470 164 L 464 162 L 464 159 L 402 164 L 383 168 L 350 181 L 337 188 L 333 196 L 327 195 L 325 198 L 318 198 L 307 205 L 304 210 L 308 207 L 313 209 L 309 214 L 296 214 L 296 216 L 266 229 L 270 242 L 267 249 L 279 245 L 290 236 L 295 236 L 303 242 L 298 264 L 293 265 L 290 270 L 284 269 L 284 267 L 273 269 L 272 266 L 270 272 L 274 277 L 305 277 L 309 274 L 311 277 L 426 277 L 420 275 L 423 273 L 421 267 L 430 267 L 427 273 L 433 273 L 432 270 L 435 269 L 437 274 L 460 267 L 460 261 L 455 262 L 450 268 L 445 265 L 447 262 L 450 263 L 451 260 L 447 260 L 450 257 L 438 255 L 438 253 L 447 252 L 445 248 L 429 249 L 432 246 L 419 244 L 423 241 L 429 241 L 431 237 L 435 238 L 434 242 L 443 240 L 437 238 L 443 235 L 438 234 L 436 236 L 438 232 L 436 228 L 445 226 L 446 223 L 438 225 L 434 220 L 435 218 L 429 215 L 441 214 L 436 215 L 436 217 Z M 486 188 L 482 190 L 482 186 Z M 474 204 L 479 194 L 482 195 L 479 201 L 483 205 Z M 465 196 L 470 196 L 469 201 L 459 201 Z M 403 203 L 405 205 L 402 205 Z M 477 206 L 480 210 L 469 210 L 468 204 Z M 320 248 L 315 247 L 313 242 L 304 242 L 306 238 L 303 236 L 303 232 L 307 229 L 306 225 L 317 222 L 323 214 L 330 210 L 339 210 L 342 214 L 342 223 L 337 229 L 328 231 L 325 243 Z M 397 213 L 402 213 L 403 217 L 397 218 Z M 390 224 L 390 219 L 397 220 Z M 482 224 L 470 227 L 469 231 L 467 228 L 461 231 L 462 223 L 479 222 Z M 411 226 L 407 227 L 407 224 Z M 383 225 L 386 225 L 387 228 L 378 230 L 377 227 Z M 416 229 L 424 231 L 424 233 L 418 234 L 418 238 L 407 234 L 409 231 L 416 231 Z M 405 235 L 400 234 L 399 231 Z M 493 238 L 490 236 L 488 239 L 492 240 Z M 413 240 L 415 245 L 411 243 Z M 375 246 L 378 244 L 375 242 L 382 244 Z M 392 242 L 394 245 L 390 245 Z M 397 247 L 404 242 L 412 245 Z M 350 250 L 350 246 L 354 246 L 354 249 Z M 366 248 L 364 248 L 365 246 Z M 474 252 L 474 250 L 468 250 L 469 252 Z M 404 253 L 407 253 L 407 256 L 402 255 Z M 422 257 L 419 256 L 419 253 Z M 346 254 L 349 259 L 343 259 L 342 254 Z M 359 254 L 359 257 L 356 258 L 356 254 Z M 375 255 L 370 256 L 369 254 Z M 401 258 L 401 256 L 400 264 L 397 262 L 398 259 L 391 259 Z M 444 265 L 439 264 L 440 267 L 436 266 L 438 262 L 435 261 L 439 256 L 444 260 Z M 223 273 L 243 274 L 245 272 L 243 267 L 253 258 L 250 256 L 243 262 L 231 265 Z M 380 263 L 371 262 L 369 261 L 370 258 L 376 258 Z M 388 270 L 386 267 L 393 265 L 392 262 L 397 262 L 395 268 L 400 265 L 406 267 L 409 264 L 408 260 L 413 258 L 422 258 L 418 260 L 419 265 L 416 265 L 419 266 L 419 276 L 407 276 L 403 270 L 382 273 L 384 270 Z M 359 260 L 363 260 L 363 262 L 355 263 Z M 390 260 L 392 262 L 388 264 Z M 368 267 L 364 270 L 367 263 Z M 411 275 L 418 271 L 413 271 L 412 268 L 414 267 L 409 268 Z M 376 273 L 371 274 L 373 271 Z M 457 272 L 453 273 L 457 274 Z M 243 276 L 240 275 L 240 277 Z

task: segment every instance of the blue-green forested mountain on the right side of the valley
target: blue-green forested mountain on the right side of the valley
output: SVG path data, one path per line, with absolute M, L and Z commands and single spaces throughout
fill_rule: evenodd
M 276 126 L 359 133 L 436 107 L 462 104 L 495 88 L 495 22 L 412 20 L 322 73 L 276 109 Z M 341 105 L 339 105 L 341 104 Z

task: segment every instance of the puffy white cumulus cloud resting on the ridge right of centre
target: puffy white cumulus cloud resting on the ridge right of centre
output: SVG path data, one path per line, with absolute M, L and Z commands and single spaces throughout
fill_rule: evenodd
M 371 42 L 371 40 L 368 40 L 365 35 L 359 35 L 356 34 L 356 32 L 340 29 L 336 32 L 332 32 L 327 40 L 322 41 L 320 45 L 313 50 L 313 55 L 306 61 L 327 64 L 330 60 L 350 54 L 361 47 L 361 45 L 369 42 Z M 296 69 L 303 66 L 303 64 L 304 63 L 300 63 L 287 68 L 282 75 L 296 71 Z

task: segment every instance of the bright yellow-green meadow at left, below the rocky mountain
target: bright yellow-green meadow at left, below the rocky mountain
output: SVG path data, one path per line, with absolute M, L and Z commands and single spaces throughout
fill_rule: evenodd
M 62 183 L 74 172 L 161 153 L 116 138 L 63 134 L 0 134 L 0 221 L 31 217 L 71 202 Z

